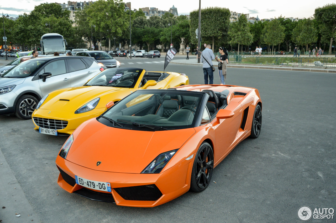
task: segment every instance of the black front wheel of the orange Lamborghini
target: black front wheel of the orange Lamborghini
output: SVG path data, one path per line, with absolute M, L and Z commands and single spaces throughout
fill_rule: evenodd
M 203 142 L 196 153 L 191 172 L 190 191 L 201 192 L 210 184 L 213 170 L 213 151 L 209 143 Z

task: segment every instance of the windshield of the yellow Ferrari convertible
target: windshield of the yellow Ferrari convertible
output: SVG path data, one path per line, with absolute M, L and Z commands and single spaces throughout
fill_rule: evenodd
M 110 68 L 93 77 L 86 85 L 134 88 L 143 69 Z

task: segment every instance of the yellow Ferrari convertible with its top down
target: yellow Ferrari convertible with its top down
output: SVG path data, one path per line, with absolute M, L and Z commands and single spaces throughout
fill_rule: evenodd
M 129 67 L 106 69 L 81 87 L 60 89 L 43 97 L 32 114 L 34 129 L 43 134 L 70 135 L 84 121 L 101 115 L 136 90 L 181 85 L 189 85 L 185 74 Z

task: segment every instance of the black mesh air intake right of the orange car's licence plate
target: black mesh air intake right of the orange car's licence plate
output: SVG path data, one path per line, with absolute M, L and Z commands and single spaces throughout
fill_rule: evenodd
M 125 200 L 129 201 L 156 201 L 162 193 L 155 184 L 114 188 Z

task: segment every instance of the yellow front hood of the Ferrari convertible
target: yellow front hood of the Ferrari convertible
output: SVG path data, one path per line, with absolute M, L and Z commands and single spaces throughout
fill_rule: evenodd
M 106 94 L 120 92 L 121 90 L 127 89 L 129 88 L 102 86 L 81 86 L 76 88 L 68 88 L 64 89 L 63 92 L 57 91 L 57 95 L 50 95 L 50 99 L 49 97 L 47 98 L 47 101 L 43 103 L 41 109 L 75 112 L 85 103 L 88 103 L 95 98 L 101 98 Z M 101 106 L 104 107 L 105 104 L 98 103 L 97 108 L 100 108 Z

